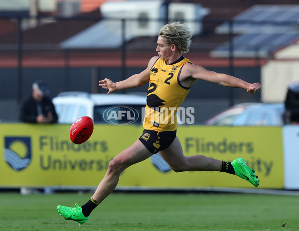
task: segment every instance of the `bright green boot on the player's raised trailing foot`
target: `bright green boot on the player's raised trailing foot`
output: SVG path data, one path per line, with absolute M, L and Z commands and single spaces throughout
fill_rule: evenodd
M 258 176 L 255 174 L 255 171 L 246 165 L 244 158 L 238 158 L 231 162 L 235 169 L 235 175 L 241 177 L 249 181 L 255 187 L 258 187 L 260 181 L 258 180 Z

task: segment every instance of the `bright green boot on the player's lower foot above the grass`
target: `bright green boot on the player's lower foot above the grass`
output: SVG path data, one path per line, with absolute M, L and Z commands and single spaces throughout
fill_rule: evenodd
M 80 225 L 84 224 L 89 218 L 84 217 L 82 214 L 82 208 L 79 207 L 77 203 L 75 203 L 73 208 L 58 205 L 56 209 L 58 210 L 58 213 L 60 213 L 60 216 L 64 217 L 65 220 L 73 220 Z

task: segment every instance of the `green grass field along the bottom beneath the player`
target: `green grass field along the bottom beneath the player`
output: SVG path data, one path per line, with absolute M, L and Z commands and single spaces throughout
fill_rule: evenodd
M 57 213 L 58 204 L 82 205 L 89 197 L 0 193 L 0 231 L 299 230 L 296 196 L 114 193 L 80 227 Z

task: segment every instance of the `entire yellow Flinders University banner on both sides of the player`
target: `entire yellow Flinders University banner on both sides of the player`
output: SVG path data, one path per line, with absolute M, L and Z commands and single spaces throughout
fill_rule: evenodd
M 143 131 L 141 125 L 95 124 L 89 140 L 74 144 L 69 129 L 68 124 L 0 124 L 0 187 L 96 187 L 110 160 Z M 177 136 L 186 156 L 205 155 L 228 161 L 242 157 L 259 175 L 259 188 L 284 186 L 281 127 L 179 126 Z M 218 171 L 175 173 L 158 154 L 126 169 L 119 186 L 253 187 L 239 177 Z

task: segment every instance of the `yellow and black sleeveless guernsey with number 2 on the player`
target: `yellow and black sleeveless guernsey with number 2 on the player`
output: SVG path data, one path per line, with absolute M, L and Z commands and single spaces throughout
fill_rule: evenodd
M 179 75 L 185 63 L 191 63 L 191 61 L 183 56 L 168 65 L 158 58 L 151 67 L 143 123 L 145 129 L 155 131 L 177 129 L 176 112 L 190 90 L 182 86 L 179 81 Z

